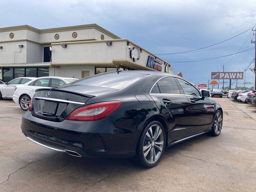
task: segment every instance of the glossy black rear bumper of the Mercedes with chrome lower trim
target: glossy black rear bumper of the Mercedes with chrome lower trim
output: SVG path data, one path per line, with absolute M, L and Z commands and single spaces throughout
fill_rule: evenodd
M 140 135 L 137 125 L 118 125 L 120 127 L 108 118 L 92 122 L 51 122 L 26 112 L 21 129 L 32 142 L 74 156 L 130 158 L 135 155 Z

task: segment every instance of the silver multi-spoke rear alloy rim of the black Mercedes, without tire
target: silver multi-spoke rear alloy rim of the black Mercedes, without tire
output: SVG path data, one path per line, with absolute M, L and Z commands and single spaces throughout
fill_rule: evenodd
M 162 154 L 164 147 L 164 133 L 158 125 L 152 125 L 144 138 L 143 154 L 146 162 L 155 163 Z

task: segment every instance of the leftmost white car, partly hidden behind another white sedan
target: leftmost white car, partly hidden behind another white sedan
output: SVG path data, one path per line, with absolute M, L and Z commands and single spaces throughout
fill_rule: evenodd
M 0 99 L 2 98 L 12 98 L 12 95 L 14 93 L 14 88 L 18 86 L 19 84 L 25 84 L 27 82 L 30 82 L 31 80 L 36 79 L 36 77 L 20 77 L 13 79 L 9 82 L 6 82 L 4 84 L 0 84 Z

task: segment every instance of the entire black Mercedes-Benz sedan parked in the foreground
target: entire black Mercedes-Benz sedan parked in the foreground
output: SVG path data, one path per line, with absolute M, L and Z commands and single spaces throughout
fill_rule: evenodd
M 180 76 L 118 70 L 36 90 L 21 129 L 32 142 L 72 156 L 135 156 L 150 168 L 168 146 L 220 134 L 222 108 L 208 97 Z

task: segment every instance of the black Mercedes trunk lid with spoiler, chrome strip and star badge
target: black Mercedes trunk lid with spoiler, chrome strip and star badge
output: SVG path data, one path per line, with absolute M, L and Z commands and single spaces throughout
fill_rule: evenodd
M 32 115 L 60 122 L 76 108 L 86 104 L 90 98 L 113 91 L 116 90 L 84 85 L 38 89 L 33 98 Z

